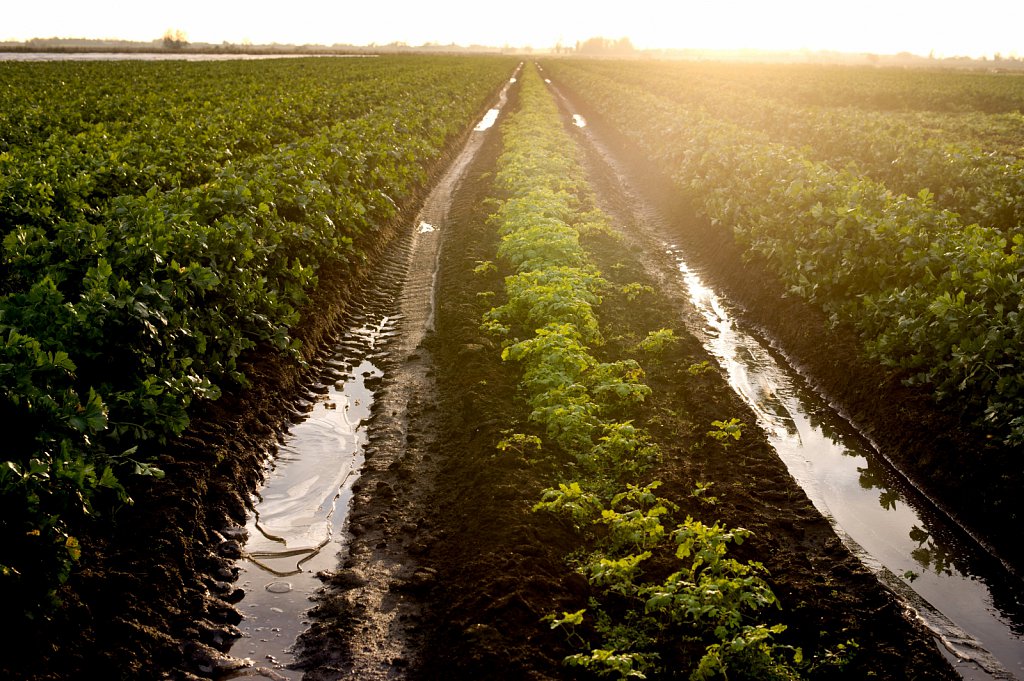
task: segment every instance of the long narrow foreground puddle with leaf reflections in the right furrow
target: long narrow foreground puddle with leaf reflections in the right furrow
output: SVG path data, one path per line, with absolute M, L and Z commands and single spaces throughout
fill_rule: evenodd
M 1024 679 L 1024 585 L 881 462 L 682 260 L 703 342 L 815 507 L 899 594 L 965 679 Z

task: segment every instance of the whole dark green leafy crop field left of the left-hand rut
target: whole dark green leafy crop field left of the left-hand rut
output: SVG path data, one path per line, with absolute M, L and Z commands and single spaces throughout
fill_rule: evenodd
M 4 96 L 31 103 L 0 128 L 0 584 L 28 616 L 53 612 L 126 484 L 162 475 L 195 405 L 244 389 L 249 353 L 301 360 L 319 272 L 362 261 L 512 63 L 391 67 L 4 67 L 20 77 Z M 35 140 L 33 116 L 51 117 Z

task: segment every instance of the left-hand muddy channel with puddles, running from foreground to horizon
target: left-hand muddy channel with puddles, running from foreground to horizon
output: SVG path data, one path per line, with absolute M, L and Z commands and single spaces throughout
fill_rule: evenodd
M 224 678 L 302 678 L 291 667 L 297 662 L 293 648 L 309 626 L 310 598 L 323 586 L 317 573 L 337 569 L 339 555 L 344 555 L 345 522 L 352 487 L 367 460 L 375 405 L 399 417 L 404 410 L 402 395 L 394 390 L 390 397 L 382 394 L 385 368 L 393 368 L 389 380 L 401 383 L 400 375 L 409 373 L 401 363 L 433 325 L 439 240 L 451 196 L 515 82 L 513 75 L 427 197 L 402 252 L 393 254 L 387 271 L 375 271 L 375 280 L 391 283 L 371 283 L 356 296 L 346 316 L 347 331 L 268 462 L 247 525 L 237 533 L 245 541 L 238 563 L 245 596 L 238 605 L 242 638 L 230 655 L 247 666 Z M 406 377 L 403 385 L 410 380 Z

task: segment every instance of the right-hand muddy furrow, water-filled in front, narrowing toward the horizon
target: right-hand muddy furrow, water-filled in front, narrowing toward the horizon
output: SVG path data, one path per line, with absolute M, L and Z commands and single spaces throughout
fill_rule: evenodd
M 647 254 L 648 274 L 681 301 L 687 328 L 718 358 L 848 549 L 898 594 L 908 618 L 931 631 L 963 678 L 1024 678 L 1024 644 L 1016 633 L 1024 590 L 1012 570 L 881 457 L 842 409 L 825 403 L 770 337 L 734 327 L 732 314 L 743 316 L 743 310 L 719 299 L 682 259 L 701 246 L 707 252 L 708 245 L 687 243 L 693 238 L 672 221 L 681 218 L 631 186 L 633 174 L 600 131 L 585 129 L 570 100 L 549 86 L 580 131 L 602 207 Z

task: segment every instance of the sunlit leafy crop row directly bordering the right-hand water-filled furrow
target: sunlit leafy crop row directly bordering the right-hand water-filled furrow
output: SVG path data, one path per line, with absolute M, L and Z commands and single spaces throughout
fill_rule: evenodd
M 1024 442 L 1024 236 L 965 224 L 927 189 L 897 194 L 625 80 L 547 70 L 871 356 L 980 432 Z

